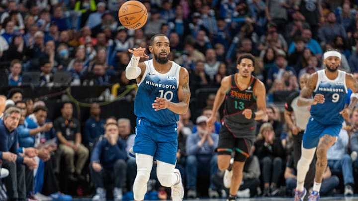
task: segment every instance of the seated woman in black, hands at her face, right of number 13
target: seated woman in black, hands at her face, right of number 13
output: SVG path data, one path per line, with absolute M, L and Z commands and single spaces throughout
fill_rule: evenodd
M 270 123 L 261 125 L 254 146 L 254 154 L 258 156 L 261 170 L 265 173 L 263 174 L 263 196 L 275 196 L 279 193 L 277 184 L 282 174 L 285 150 L 281 140 L 275 137 L 273 127 Z

